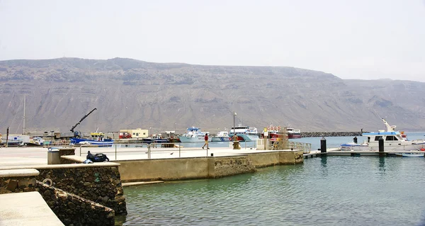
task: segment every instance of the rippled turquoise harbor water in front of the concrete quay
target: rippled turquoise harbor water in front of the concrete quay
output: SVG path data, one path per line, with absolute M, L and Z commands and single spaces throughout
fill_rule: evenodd
M 117 225 L 417 225 L 424 158 L 317 157 L 222 179 L 125 187 Z

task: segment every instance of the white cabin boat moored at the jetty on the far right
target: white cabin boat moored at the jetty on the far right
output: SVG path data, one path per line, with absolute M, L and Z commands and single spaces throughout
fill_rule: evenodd
M 385 151 L 423 151 L 425 150 L 424 140 L 407 140 L 402 133 L 395 131 L 395 125 L 389 125 L 385 119 L 382 122 L 387 130 L 378 132 L 363 132 L 362 136 L 367 139 L 361 144 L 349 142 L 341 144 L 341 151 L 379 151 L 379 139 L 384 140 Z

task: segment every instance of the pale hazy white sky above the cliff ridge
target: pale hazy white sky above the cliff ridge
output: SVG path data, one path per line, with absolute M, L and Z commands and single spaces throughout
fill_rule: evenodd
M 425 0 L 0 0 L 0 60 L 64 56 L 425 81 Z

